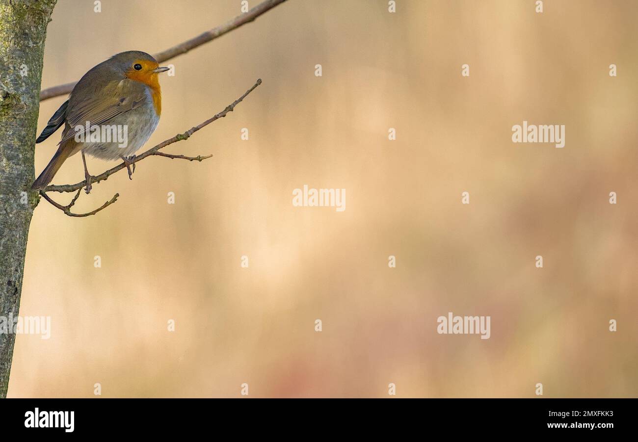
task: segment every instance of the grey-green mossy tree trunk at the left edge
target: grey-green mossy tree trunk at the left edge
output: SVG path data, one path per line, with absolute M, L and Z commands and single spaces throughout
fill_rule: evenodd
M 56 0 L 0 0 L 0 398 L 13 356 L 13 321 L 38 192 L 31 191 L 47 24 Z

